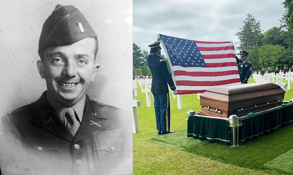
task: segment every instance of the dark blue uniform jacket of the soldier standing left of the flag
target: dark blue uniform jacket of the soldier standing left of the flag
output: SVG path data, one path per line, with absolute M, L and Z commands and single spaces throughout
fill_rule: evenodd
M 176 90 L 172 77 L 168 71 L 166 60 L 159 55 L 149 54 L 147 61 L 153 76 L 151 81 L 151 92 L 154 94 L 167 94 L 169 93 L 168 84 L 171 90 Z

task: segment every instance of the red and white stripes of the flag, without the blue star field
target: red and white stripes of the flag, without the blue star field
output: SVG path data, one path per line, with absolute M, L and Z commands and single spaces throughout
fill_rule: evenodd
M 217 86 L 241 84 L 232 42 L 195 43 L 206 67 L 172 66 L 178 94 L 202 93 Z

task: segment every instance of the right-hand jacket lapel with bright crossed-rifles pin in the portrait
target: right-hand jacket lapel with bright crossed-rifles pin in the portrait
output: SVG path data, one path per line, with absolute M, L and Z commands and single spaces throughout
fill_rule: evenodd
M 101 110 L 99 104 L 86 96 L 86 107 L 81 125 L 76 132 L 74 142 L 87 139 L 105 129 L 110 124 L 107 114 Z

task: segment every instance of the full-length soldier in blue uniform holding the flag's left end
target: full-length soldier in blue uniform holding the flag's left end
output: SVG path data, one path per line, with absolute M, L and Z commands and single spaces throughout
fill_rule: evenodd
M 156 114 L 156 126 L 158 135 L 172 133 L 170 131 L 170 99 L 168 84 L 177 95 L 176 87 L 168 71 L 166 60 L 161 56 L 160 42 L 150 44 L 150 54 L 147 57 L 149 69 L 153 79 L 151 81 L 151 92 L 154 96 L 154 108 Z M 168 84 L 167 84 L 168 83 Z

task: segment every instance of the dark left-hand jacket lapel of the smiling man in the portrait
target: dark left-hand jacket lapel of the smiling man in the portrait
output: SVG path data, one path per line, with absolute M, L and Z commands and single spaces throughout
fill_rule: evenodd
M 73 136 L 60 121 L 57 113 L 49 104 L 47 100 L 47 91 L 45 91 L 40 99 L 33 104 L 33 111 L 33 123 L 56 136 L 68 141 L 73 141 Z

